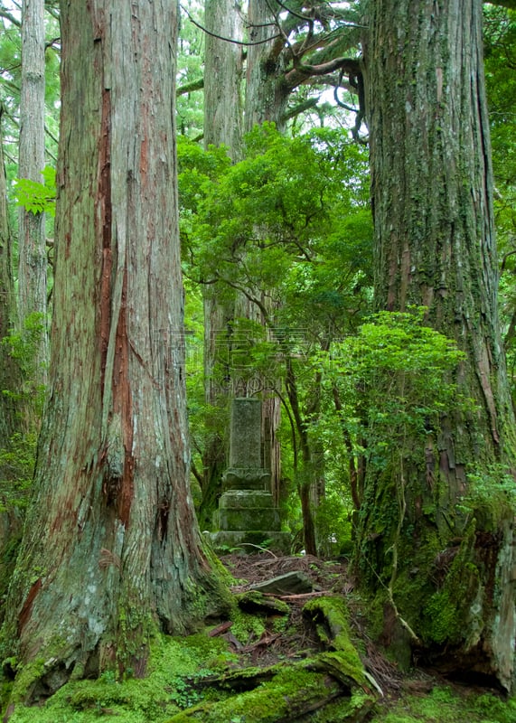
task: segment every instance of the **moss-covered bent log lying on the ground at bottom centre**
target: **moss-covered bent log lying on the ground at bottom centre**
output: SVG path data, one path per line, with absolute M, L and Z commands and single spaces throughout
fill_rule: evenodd
M 304 661 L 227 671 L 204 679 L 202 686 L 211 689 L 211 700 L 183 710 L 168 723 L 302 723 L 326 707 L 331 710 L 327 719 L 364 720 L 379 688 L 364 670 L 350 639 L 345 601 L 318 597 L 307 603 L 304 614 L 327 651 Z M 217 690 L 223 700 L 213 700 Z

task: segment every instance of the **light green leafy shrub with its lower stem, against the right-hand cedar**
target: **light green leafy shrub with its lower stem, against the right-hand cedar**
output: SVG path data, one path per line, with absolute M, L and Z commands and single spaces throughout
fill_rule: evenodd
M 357 465 L 361 458 L 370 471 L 390 476 L 386 494 L 391 503 L 385 499 L 373 505 L 381 510 L 378 531 L 399 520 L 404 469 L 420 462 L 415 440 L 437 434 L 441 416 L 451 406 L 471 406 L 455 382 L 464 354 L 427 326 L 425 315 L 424 307 L 373 315 L 356 334 L 316 356 L 324 416 L 313 434 L 325 448 L 341 449 L 342 475 L 350 459 Z M 333 407 L 336 393 L 340 408 Z

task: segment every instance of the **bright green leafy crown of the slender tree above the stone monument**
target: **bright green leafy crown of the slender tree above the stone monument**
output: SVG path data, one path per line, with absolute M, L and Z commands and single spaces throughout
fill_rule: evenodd
M 359 173 L 367 159 L 342 133 L 292 139 L 270 124 L 247 136 L 246 149 L 231 165 L 223 149 L 178 145 L 185 274 L 222 296 L 265 291 L 282 310 L 303 293 L 303 327 L 324 302 L 343 305 L 342 264 L 358 273 L 371 258 Z M 297 314 L 301 307 L 297 299 Z

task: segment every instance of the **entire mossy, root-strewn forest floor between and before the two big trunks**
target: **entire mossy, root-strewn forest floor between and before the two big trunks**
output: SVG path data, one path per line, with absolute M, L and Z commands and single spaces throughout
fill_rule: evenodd
M 500 690 L 451 680 L 436 670 L 401 671 L 389 660 L 371 640 L 366 606 L 344 561 L 257 550 L 223 556 L 221 562 L 230 572 L 237 602 L 230 620 L 213 621 L 188 637 L 158 635 L 144 679 L 119 681 L 107 671 L 96 680 L 69 681 L 35 707 L 16 707 L 10 723 L 97 723 L 99 718 L 120 723 L 516 723 L 516 698 L 508 700 Z M 325 641 L 321 624 L 306 614 L 314 609 L 330 624 L 333 636 Z M 340 653 L 328 652 L 342 637 L 342 618 L 332 626 L 330 616 L 342 610 L 351 654 L 346 643 L 333 648 Z M 351 669 L 335 667 L 339 654 L 341 661 L 342 655 L 350 655 L 350 661 L 354 656 L 370 676 L 366 685 L 362 678 L 353 686 L 358 696 L 353 693 L 351 700 L 345 690 L 342 697 Z M 328 662 L 333 668 L 314 672 Z M 303 680 L 317 675 L 322 683 L 310 692 Z M 282 687 L 286 684 L 289 692 Z M 264 700 L 269 705 L 262 715 L 258 705 Z M 351 713 L 342 718 L 339 710 L 348 706 L 346 700 Z M 296 706 L 300 714 L 294 714 Z

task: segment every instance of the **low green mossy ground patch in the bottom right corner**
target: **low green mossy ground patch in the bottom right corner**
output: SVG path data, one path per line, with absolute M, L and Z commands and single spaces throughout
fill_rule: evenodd
M 515 723 L 516 699 L 483 692 L 436 687 L 426 696 L 404 695 L 395 705 L 380 703 L 370 723 Z

